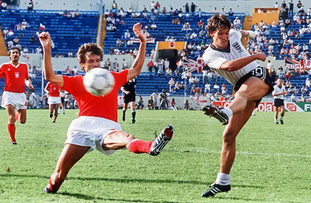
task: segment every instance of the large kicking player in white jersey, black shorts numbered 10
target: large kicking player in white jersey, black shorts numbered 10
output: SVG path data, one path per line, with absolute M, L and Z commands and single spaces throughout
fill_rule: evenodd
M 250 55 L 241 43 L 242 37 L 254 38 L 252 31 L 230 30 L 230 20 L 215 14 L 208 21 L 208 34 L 213 41 L 203 54 L 208 67 L 235 86 L 234 100 L 228 107 L 204 106 L 207 116 L 217 118 L 227 125 L 223 133 L 220 171 L 215 183 L 201 196 L 211 197 L 231 189 L 230 170 L 235 159 L 236 136 L 252 115 L 262 97 L 273 91 L 271 77 L 266 68 L 260 67 L 256 60 L 265 61 L 266 55 Z

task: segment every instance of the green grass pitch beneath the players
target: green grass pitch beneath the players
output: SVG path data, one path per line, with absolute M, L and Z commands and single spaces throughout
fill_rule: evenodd
M 125 132 L 151 140 L 171 123 L 172 141 L 158 156 L 120 150 L 86 154 L 57 194 L 42 193 L 55 169 L 68 126 L 78 110 L 52 123 L 48 110 L 28 110 L 10 143 L 7 115 L 0 110 L 0 202 L 231 203 L 311 202 L 311 113 L 286 113 L 275 125 L 272 112 L 251 117 L 237 137 L 231 191 L 203 199 L 219 171 L 222 126 L 199 111 L 138 110 Z M 7 171 L 9 168 L 9 171 Z

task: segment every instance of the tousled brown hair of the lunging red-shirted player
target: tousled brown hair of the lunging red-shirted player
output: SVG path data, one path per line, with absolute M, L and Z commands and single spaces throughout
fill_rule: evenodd
M 103 59 L 103 49 L 96 43 L 86 43 L 81 45 L 78 51 L 78 60 L 80 64 L 86 63 L 86 54 L 90 53 L 92 55 L 97 55 Z

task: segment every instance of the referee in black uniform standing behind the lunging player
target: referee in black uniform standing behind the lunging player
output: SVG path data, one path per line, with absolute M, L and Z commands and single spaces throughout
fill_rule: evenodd
M 128 107 L 128 103 L 130 103 L 130 107 L 132 109 L 132 122 L 135 123 L 135 87 L 136 87 L 136 81 L 135 79 L 130 80 L 127 82 L 127 84 L 123 85 L 121 87 L 121 91 L 124 92 L 124 104 L 123 104 L 123 117 L 122 120 L 125 121 L 125 112 Z

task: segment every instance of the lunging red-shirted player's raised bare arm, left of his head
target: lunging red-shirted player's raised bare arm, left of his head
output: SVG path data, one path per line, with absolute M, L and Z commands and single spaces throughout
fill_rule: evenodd
M 61 75 L 56 75 L 52 68 L 52 39 L 49 32 L 42 32 L 39 34 L 40 43 L 43 47 L 43 69 L 44 69 L 44 79 L 59 86 L 64 86 L 64 79 Z

